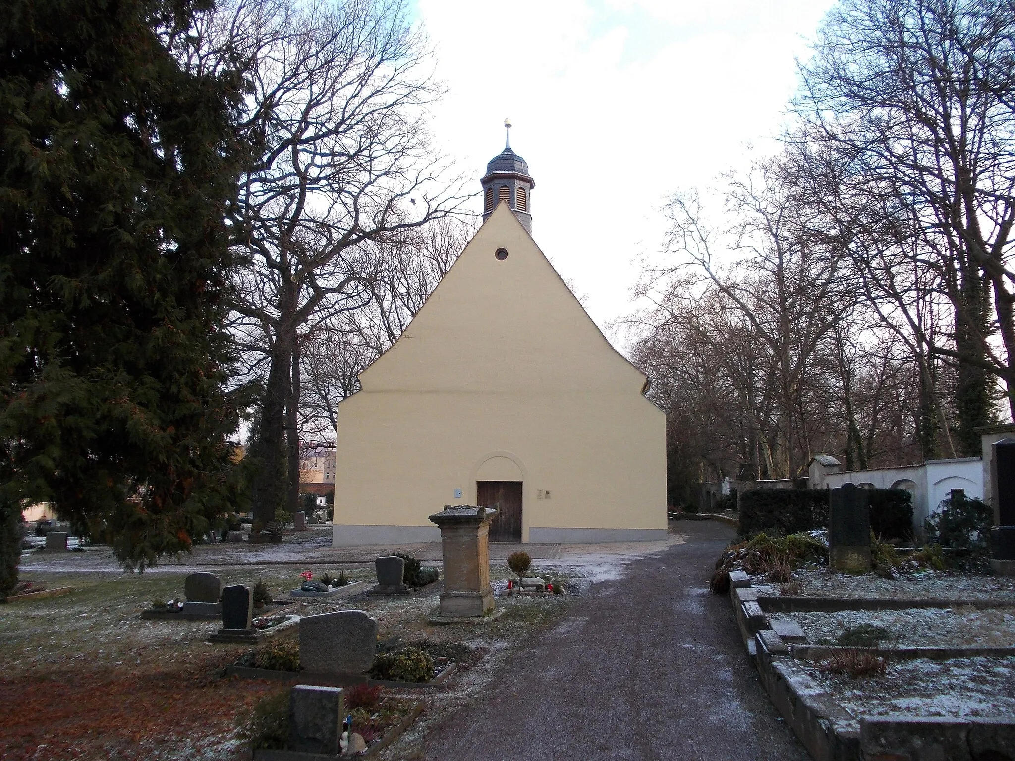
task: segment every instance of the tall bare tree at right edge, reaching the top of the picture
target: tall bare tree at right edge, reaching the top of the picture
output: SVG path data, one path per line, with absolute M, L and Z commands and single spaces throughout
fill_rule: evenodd
M 836 195 L 867 215 L 841 221 L 870 232 L 880 214 L 879 235 L 889 225 L 911 234 L 895 255 L 933 271 L 948 298 L 951 340 L 918 343 L 956 365 L 965 453 L 978 452 L 973 428 L 992 418 L 992 376 L 1015 410 L 1013 40 L 1009 0 L 844 0 L 802 67 L 796 103 L 798 139 L 834 154 Z M 868 239 L 858 258 L 888 248 Z

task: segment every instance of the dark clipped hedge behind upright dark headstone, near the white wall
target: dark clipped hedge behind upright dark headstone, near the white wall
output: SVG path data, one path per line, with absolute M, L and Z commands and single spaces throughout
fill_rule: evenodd
M 787 536 L 828 527 L 829 489 L 752 489 L 740 496 L 740 534 Z M 870 489 L 871 531 L 884 540 L 912 537 L 912 498 L 904 489 Z

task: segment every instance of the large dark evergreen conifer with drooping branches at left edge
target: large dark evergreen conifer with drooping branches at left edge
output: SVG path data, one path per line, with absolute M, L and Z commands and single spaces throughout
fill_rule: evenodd
M 0 14 L 0 505 L 50 500 L 141 569 L 188 550 L 230 493 L 242 77 L 193 66 L 209 10 Z

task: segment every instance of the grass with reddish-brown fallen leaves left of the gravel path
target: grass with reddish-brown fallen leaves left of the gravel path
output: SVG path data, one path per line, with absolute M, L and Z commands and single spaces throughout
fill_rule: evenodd
M 315 575 L 340 569 L 313 566 Z M 219 573 L 223 584 L 253 586 L 263 577 L 277 596 L 296 587 L 303 568 L 250 565 L 209 570 Z M 374 578 L 373 567 L 345 570 L 353 581 Z M 24 579 L 74 591 L 0 605 L 0 704 L 18 706 L 16 713 L 5 712 L 0 722 L 0 757 L 5 761 L 249 758 L 240 728 L 261 697 L 278 692 L 278 685 L 222 678 L 224 667 L 249 647 L 208 642 L 213 622 L 140 619 L 152 601 L 182 598 L 186 575 L 168 565 L 144 574 L 22 572 Z M 492 577 L 511 575 L 502 561 L 491 564 Z M 497 598 L 497 606 L 506 610 L 504 616 L 464 629 L 428 625 L 437 596 L 434 589 L 408 598 L 362 597 L 301 605 L 303 614 L 366 610 L 378 618 L 382 636 L 425 638 L 438 649 L 443 644 L 445 656 L 459 660 L 468 654 L 462 659 L 466 671 L 480 669 L 486 675 L 489 670 L 481 662 L 486 653 L 495 651 L 499 654 L 494 660 L 499 660 L 507 648 L 525 646 L 530 635 L 552 624 L 577 599 L 573 595 Z M 279 636 L 294 635 L 295 630 Z M 463 639 L 468 640 L 468 652 L 459 644 Z

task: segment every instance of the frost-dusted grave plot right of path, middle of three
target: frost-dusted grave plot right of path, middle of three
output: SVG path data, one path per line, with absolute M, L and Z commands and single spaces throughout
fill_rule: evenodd
M 786 613 L 772 618 L 796 621 L 807 641 L 816 644 L 834 643 L 844 630 L 870 624 L 888 630 L 883 646 L 889 647 L 1015 646 L 1015 608 Z

